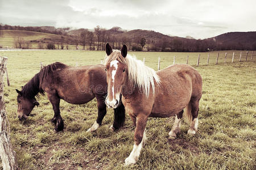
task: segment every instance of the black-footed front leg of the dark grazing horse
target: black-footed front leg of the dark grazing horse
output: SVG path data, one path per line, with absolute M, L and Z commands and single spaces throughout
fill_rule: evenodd
M 52 104 L 52 108 L 54 111 L 54 116 L 52 118 L 52 122 L 55 124 L 55 131 L 59 132 L 64 129 L 64 122 L 62 117 L 60 116 L 60 98 L 57 95 L 47 94 L 49 101 Z

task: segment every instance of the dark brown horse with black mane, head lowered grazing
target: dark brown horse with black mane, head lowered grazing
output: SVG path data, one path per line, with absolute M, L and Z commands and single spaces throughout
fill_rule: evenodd
M 48 96 L 52 104 L 54 116 L 52 122 L 55 130 L 64 129 L 60 116 L 60 99 L 71 104 L 85 104 L 96 97 L 98 117 L 88 131 L 96 130 L 106 114 L 105 96 L 107 92 L 106 72 L 104 65 L 71 67 L 60 62 L 43 67 L 22 90 L 18 92 L 18 118 L 27 118 L 35 105 L 39 105 L 35 96 L 39 93 Z M 120 128 L 125 121 L 125 108 L 119 104 L 114 109 L 112 129 Z

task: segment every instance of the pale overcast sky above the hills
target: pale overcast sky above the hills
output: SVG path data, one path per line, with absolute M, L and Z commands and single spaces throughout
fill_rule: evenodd
M 0 23 L 93 29 L 150 29 L 204 39 L 256 31 L 255 0 L 0 0 Z

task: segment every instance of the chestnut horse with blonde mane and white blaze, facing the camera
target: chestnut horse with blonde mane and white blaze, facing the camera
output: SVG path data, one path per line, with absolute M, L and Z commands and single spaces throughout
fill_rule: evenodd
M 188 134 L 197 131 L 199 100 L 202 95 L 202 78 L 193 67 L 176 64 L 155 71 L 135 57 L 127 55 L 127 47 L 121 51 L 112 50 L 106 44 L 105 67 L 108 82 L 106 104 L 116 108 L 122 95 L 125 110 L 133 120 L 135 128 L 134 147 L 125 164 L 134 164 L 139 158 L 146 141 L 148 117 L 175 116 L 169 138 L 176 138 L 180 132 L 183 109 L 191 122 Z

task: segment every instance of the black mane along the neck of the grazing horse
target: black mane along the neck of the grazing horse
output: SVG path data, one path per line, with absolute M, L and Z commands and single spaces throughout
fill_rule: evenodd
M 46 78 L 49 73 L 53 73 L 53 71 L 63 69 L 65 67 L 68 66 L 61 62 L 55 62 L 43 67 L 39 73 L 37 73 L 27 84 L 25 84 L 24 87 L 22 87 L 22 94 L 29 99 L 37 96 L 38 93 L 44 95 L 44 90 L 41 87 L 44 78 Z

